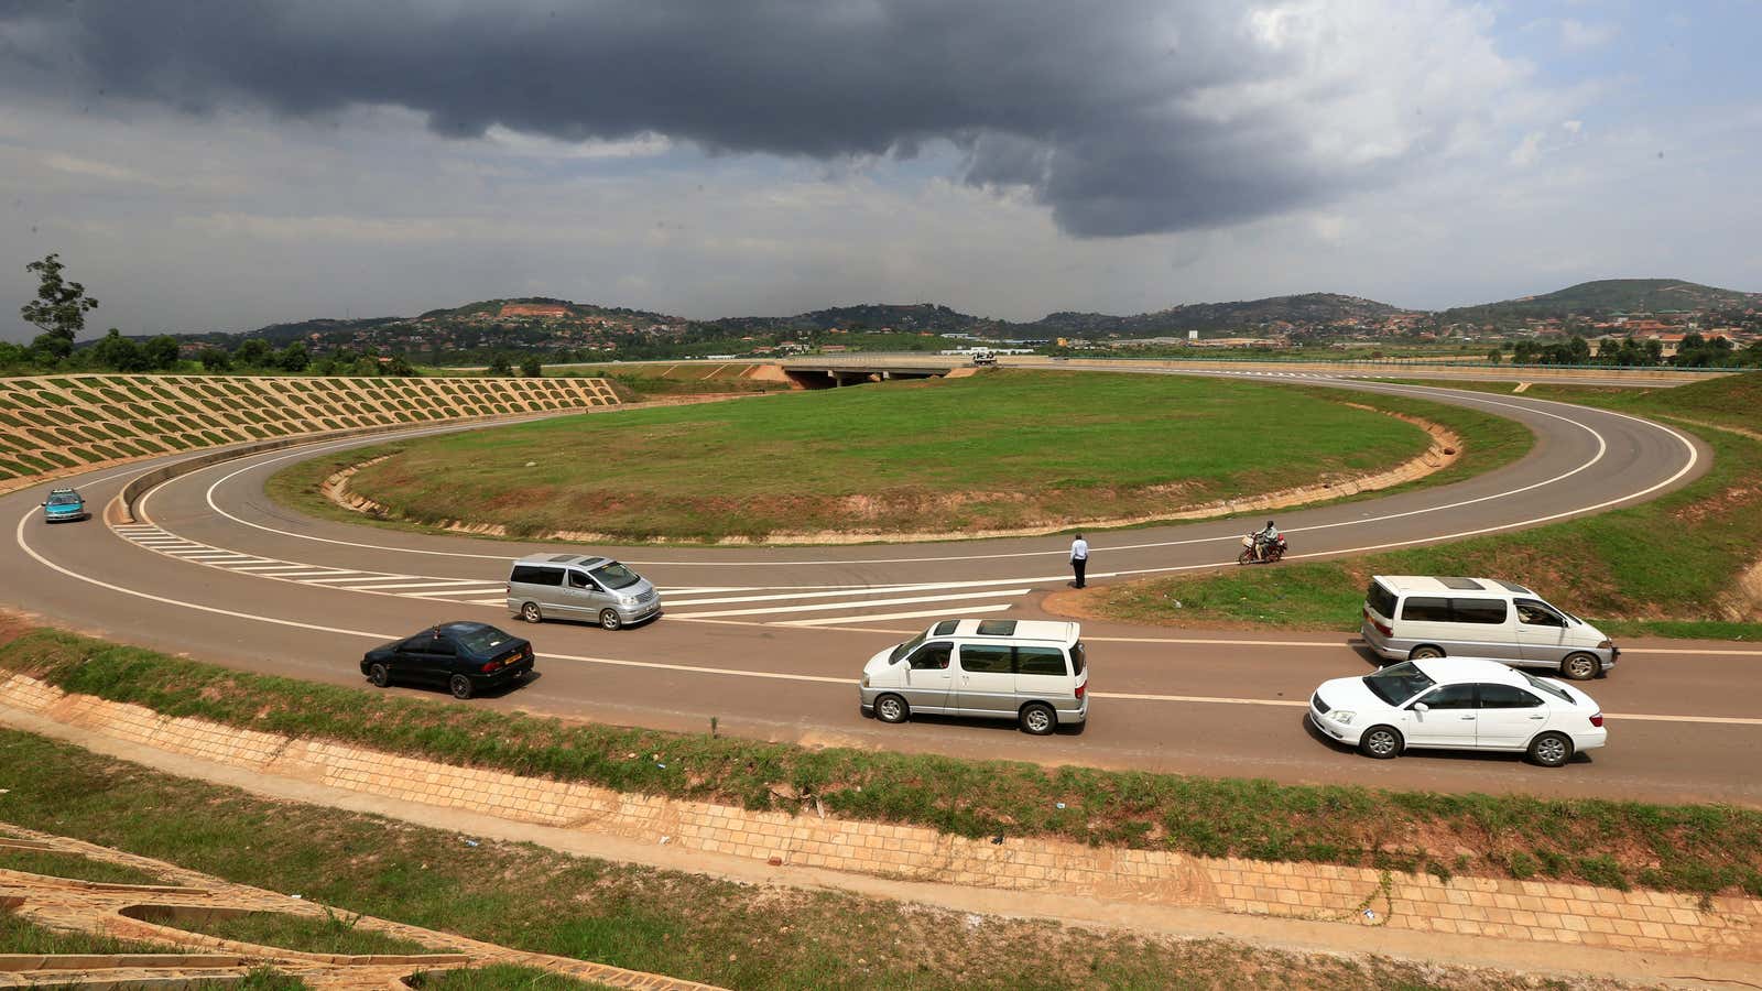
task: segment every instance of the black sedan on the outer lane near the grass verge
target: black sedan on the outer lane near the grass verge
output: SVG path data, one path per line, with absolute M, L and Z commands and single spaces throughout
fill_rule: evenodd
M 416 637 L 374 647 L 361 656 L 366 681 L 446 686 L 453 698 L 470 698 L 532 674 L 532 644 L 488 622 L 442 622 Z

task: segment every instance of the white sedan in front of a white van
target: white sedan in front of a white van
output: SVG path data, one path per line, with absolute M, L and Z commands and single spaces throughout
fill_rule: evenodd
M 1503 749 L 1559 767 L 1609 739 L 1589 695 L 1482 658 L 1403 661 L 1325 681 L 1309 697 L 1309 721 L 1380 760 L 1408 748 Z

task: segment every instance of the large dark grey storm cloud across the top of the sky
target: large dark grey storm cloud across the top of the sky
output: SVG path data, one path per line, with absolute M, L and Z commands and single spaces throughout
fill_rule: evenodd
M 1221 226 L 1373 178 L 1299 153 L 1300 109 L 1203 101 L 1302 55 L 1256 44 L 1240 5 L 1168 0 L 0 2 L 12 92 L 395 104 L 458 138 L 657 132 L 811 159 L 946 139 L 964 182 L 1027 187 L 1078 236 Z

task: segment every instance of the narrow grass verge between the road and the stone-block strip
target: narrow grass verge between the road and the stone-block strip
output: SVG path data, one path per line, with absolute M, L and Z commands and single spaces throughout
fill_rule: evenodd
M 1762 896 L 1762 811 L 1732 806 L 1290 786 L 811 749 L 370 695 L 46 630 L 0 649 L 0 668 L 167 716 L 749 809 L 802 813 L 818 801 L 844 818 L 969 838 L 1031 834 L 1203 857 Z M 1598 838 L 1596 855 L 1586 853 L 1586 836 Z M 1471 855 L 1461 859 L 1457 848 Z

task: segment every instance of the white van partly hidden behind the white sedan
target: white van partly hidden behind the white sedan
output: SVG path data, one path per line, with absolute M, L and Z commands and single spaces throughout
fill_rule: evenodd
M 1621 656 L 1602 630 L 1501 578 L 1374 575 L 1359 630 L 1390 661 L 1491 658 L 1573 681 L 1607 672 Z

